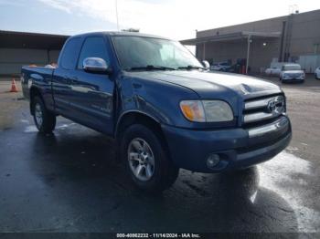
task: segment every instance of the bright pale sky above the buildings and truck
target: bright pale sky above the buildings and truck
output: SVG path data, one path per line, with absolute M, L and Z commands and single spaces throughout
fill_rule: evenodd
M 0 30 L 75 35 L 139 28 L 176 40 L 197 30 L 320 9 L 319 0 L 0 0 Z

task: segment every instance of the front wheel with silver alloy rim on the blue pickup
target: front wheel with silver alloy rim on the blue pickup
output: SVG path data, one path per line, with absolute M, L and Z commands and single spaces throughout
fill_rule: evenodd
M 163 192 L 176 182 L 179 169 L 162 137 L 149 127 L 133 124 L 124 130 L 120 155 L 134 185 L 144 192 Z

